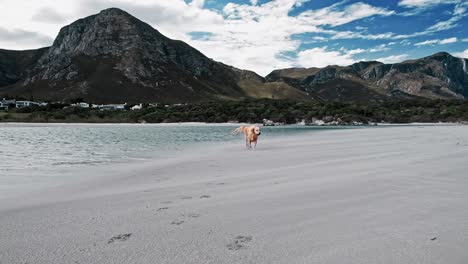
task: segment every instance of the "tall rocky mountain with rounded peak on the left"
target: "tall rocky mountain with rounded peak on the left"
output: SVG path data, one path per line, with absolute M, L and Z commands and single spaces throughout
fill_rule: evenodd
M 117 8 L 62 28 L 49 48 L 0 50 L 0 95 L 97 103 L 305 98 L 216 62 Z M 255 87 L 255 89 L 253 89 Z

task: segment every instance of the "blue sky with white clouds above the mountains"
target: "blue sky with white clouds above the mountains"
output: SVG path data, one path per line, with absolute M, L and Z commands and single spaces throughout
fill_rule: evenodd
M 50 46 L 61 27 L 121 8 L 210 58 L 274 69 L 468 58 L 468 0 L 0 0 L 0 48 Z

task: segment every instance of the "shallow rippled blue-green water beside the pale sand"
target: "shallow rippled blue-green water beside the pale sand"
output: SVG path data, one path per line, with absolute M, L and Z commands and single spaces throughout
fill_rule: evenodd
M 242 136 L 231 133 L 234 128 L 186 124 L 3 124 L 0 125 L 0 192 L 58 184 L 77 171 L 93 167 L 177 156 L 201 144 L 233 140 L 242 144 Z M 263 127 L 262 138 L 323 129 L 337 128 Z

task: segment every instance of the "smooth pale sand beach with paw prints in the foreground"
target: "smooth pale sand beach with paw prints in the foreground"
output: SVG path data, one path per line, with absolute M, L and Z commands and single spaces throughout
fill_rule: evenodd
M 2 200 L 0 263 L 468 263 L 467 126 L 242 146 Z

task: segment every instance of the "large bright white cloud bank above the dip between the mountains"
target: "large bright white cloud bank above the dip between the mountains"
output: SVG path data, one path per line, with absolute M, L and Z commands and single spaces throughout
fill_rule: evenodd
M 391 11 L 367 4 L 335 4 L 319 10 L 306 11 L 296 17 L 289 13 L 304 0 L 274 0 L 259 5 L 228 3 L 222 10 L 222 23 L 198 28 L 211 32 L 208 41 L 182 38 L 208 56 L 239 68 L 247 68 L 261 75 L 272 69 L 297 65 L 284 56 L 296 52 L 301 42 L 294 34 L 325 33 L 321 26 L 338 26 L 374 15 L 390 15 Z M 188 27 L 190 28 L 190 27 Z M 163 33 L 165 31 L 162 31 Z M 325 41 L 324 37 L 313 38 Z M 234 55 L 235 54 L 235 55 Z

